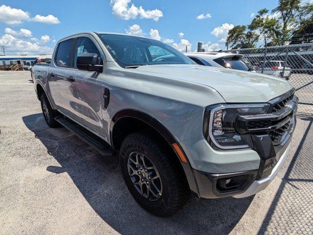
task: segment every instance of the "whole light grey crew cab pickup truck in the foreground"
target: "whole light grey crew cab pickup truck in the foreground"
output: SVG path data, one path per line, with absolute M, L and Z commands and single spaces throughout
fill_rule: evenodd
M 32 73 L 48 126 L 117 155 L 134 199 L 158 216 L 190 194 L 241 198 L 265 189 L 296 124 L 288 81 L 196 65 L 143 37 L 75 34 Z

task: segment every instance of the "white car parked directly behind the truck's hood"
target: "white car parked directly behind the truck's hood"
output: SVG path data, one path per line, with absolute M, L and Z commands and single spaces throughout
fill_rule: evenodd
M 224 52 L 189 52 L 185 53 L 198 65 L 213 66 L 242 71 L 253 71 L 252 67 L 243 61 L 241 54 Z

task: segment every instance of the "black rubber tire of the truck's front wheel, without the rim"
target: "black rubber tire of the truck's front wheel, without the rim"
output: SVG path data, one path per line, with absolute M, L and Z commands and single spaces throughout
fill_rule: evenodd
M 162 193 L 158 194 L 159 198 L 156 200 L 149 200 L 135 188 L 128 169 L 129 156 L 134 152 L 141 152 L 148 157 L 159 173 Z M 168 217 L 179 211 L 189 199 L 188 183 L 174 158 L 176 156 L 170 156 L 169 151 L 162 147 L 160 141 L 155 141 L 144 132 L 130 134 L 122 141 L 120 159 L 124 181 L 138 204 L 151 214 Z M 136 169 L 139 170 L 139 167 Z M 150 186 L 152 187 L 151 182 Z

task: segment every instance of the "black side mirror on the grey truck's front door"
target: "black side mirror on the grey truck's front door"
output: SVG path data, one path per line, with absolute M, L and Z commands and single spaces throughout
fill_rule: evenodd
M 77 56 L 76 67 L 78 70 L 102 72 L 103 65 L 98 65 L 96 53 L 84 53 Z

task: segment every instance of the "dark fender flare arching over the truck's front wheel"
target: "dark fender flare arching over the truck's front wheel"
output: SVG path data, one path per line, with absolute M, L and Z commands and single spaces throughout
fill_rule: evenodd
M 175 148 L 173 147 L 172 144 L 176 143 L 179 146 L 179 148 L 181 149 L 181 151 L 183 152 L 183 154 L 186 156 L 184 150 L 180 146 L 179 142 L 176 141 L 175 137 L 169 132 L 169 130 L 160 121 L 151 117 L 150 115 L 148 115 L 144 112 L 138 111 L 138 110 L 134 110 L 134 109 L 123 109 L 123 110 L 120 110 L 119 112 L 117 112 L 114 115 L 114 117 L 112 118 L 112 121 L 110 123 L 110 141 L 112 143 L 113 148 L 114 148 L 114 143 L 113 143 L 113 139 L 112 139 L 113 128 L 114 128 L 115 123 L 118 120 L 120 120 L 121 118 L 137 118 L 141 121 L 144 121 L 147 125 L 149 125 L 153 129 L 155 129 L 169 143 L 169 145 L 173 149 L 174 153 L 176 154 L 176 157 L 179 159 L 179 162 L 181 163 L 181 165 L 183 167 L 183 170 L 185 172 L 185 176 L 187 178 L 187 181 L 188 181 L 188 184 L 189 184 L 191 191 L 197 197 L 200 197 L 198 185 L 197 185 L 196 178 L 195 178 L 195 175 L 193 172 L 193 168 L 192 168 L 188 158 L 187 158 L 187 163 L 182 162 L 177 151 L 175 150 Z

